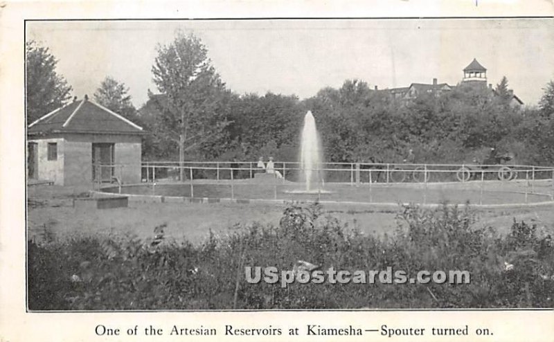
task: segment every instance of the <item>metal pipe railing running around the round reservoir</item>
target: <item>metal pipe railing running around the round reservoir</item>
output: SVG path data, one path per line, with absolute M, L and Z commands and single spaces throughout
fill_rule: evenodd
M 199 182 L 204 183 L 219 183 L 222 186 L 230 186 L 231 198 L 235 199 L 241 195 L 240 189 L 242 186 L 260 186 L 254 183 L 238 183 L 238 179 L 244 178 L 244 176 L 253 178 L 255 177 L 255 170 L 253 162 L 240 162 L 240 161 L 216 161 L 216 162 L 186 162 L 182 165 L 175 165 L 175 162 L 145 162 L 139 164 L 95 164 L 93 165 L 93 175 L 96 176 L 95 181 L 98 183 L 98 189 L 102 188 L 102 183 L 113 182 L 118 183 L 118 192 L 121 193 L 123 183 L 125 183 L 125 172 L 127 169 L 139 167 L 144 171 L 146 181 L 152 182 L 152 194 L 156 194 L 159 181 L 163 181 L 167 177 L 170 177 L 172 172 L 175 174 L 181 174 L 181 169 L 184 169 L 184 174 L 188 173 L 188 186 L 190 186 L 190 197 L 195 197 L 195 184 Z M 276 163 L 274 170 L 281 170 L 283 172 L 283 181 L 280 183 L 273 183 L 273 198 L 278 199 L 280 195 L 280 189 L 287 186 L 297 186 L 294 181 L 300 181 L 299 174 L 305 171 L 300 168 L 300 163 L 296 162 L 283 162 Z M 233 165 L 231 167 L 231 165 Z M 277 166 L 277 165 L 276 165 Z M 506 169 L 502 169 L 506 167 Z M 109 171 L 106 171 L 109 170 Z M 188 172 L 186 172 L 188 169 Z M 528 204 L 533 201 L 533 195 L 541 195 L 554 200 L 554 168 L 544 166 L 533 165 L 478 165 L 478 164 L 449 164 L 448 168 L 445 164 L 407 164 L 407 163 L 323 163 L 321 168 L 312 169 L 314 172 L 323 174 L 321 183 L 318 185 L 318 198 L 321 198 L 321 187 L 325 188 L 325 184 L 350 184 L 350 186 L 364 186 L 366 181 L 368 182 L 368 194 L 364 197 L 365 201 L 373 203 L 375 201 L 375 194 L 379 195 L 379 186 L 395 187 L 398 177 L 401 175 L 400 182 L 413 183 L 412 188 L 418 188 L 420 190 L 420 200 L 423 204 L 429 202 L 429 196 L 433 197 L 432 189 L 436 188 L 434 184 L 444 183 L 445 181 L 456 181 L 457 183 L 466 184 L 465 190 L 475 191 L 474 203 L 485 204 L 487 199 L 486 193 L 488 191 L 494 191 L 494 187 L 498 188 L 498 184 L 505 184 L 505 182 L 492 182 L 490 179 L 501 179 L 506 177 L 506 182 L 509 179 L 520 180 L 512 182 L 515 186 L 512 186 L 511 192 L 519 191 L 521 194 L 521 201 Z M 114 175 L 110 179 L 104 179 L 107 174 Z M 115 177 L 115 174 L 118 177 Z M 229 175 L 229 178 L 226 178 Z M 459 177 L 462 175 L 463 177 Z M 185 179 L 179 179 L 184 182 Z M 548 183 L 544 183 L 547 181 Z M 293 182 L 293 183 L 288 183 Z M 375 188 L 375 184 L 379 182 L 379 186 Z M 239 186 L 240 185 L 240 186 Z M 331 185 L 332 186 L 332 185 Z M 502 185 L 501 185 L 502 186 Z M 363 187 L 361 190 L 363 191 Z M 376 190 L 377 189 L 377 190 Z M 515 190 L 513 190 L 515 189 Z M 519 189 L 519 190 L 518 190 Z M 537 191 L 539 189 L 542 192 Z M 357 191 L 357 190 L 356 190 Z M 271 195 L 269 195 L 271 196 Z M 477 197 L 478 196 L 478 197 Z M 536 200 L 536 199 L 535 199 Z

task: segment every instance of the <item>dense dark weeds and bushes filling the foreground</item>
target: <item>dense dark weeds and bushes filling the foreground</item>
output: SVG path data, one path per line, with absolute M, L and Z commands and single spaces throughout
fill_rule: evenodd
M 402 207 L 397 231 L 363 235 L 321 206 L 291 205 L 278 226 L 234 226 L 197 246 L 110 235 L 28 242 L 32 310 L 552 307 L 554 244 L 536 226 L 475 228 L 471 209 Z M 244 267 L 467 270 L 470 284 L 249 284 Z

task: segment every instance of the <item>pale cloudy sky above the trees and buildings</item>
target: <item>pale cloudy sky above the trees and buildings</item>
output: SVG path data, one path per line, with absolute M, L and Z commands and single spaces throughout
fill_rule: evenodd
M 379 89 L 412 82 L 455 85 L 476 58 L 488 83 L 502 76 L 526 105 L 554 80 L 553 19 L 280 19 L 28 21 L 26 39 L 50 48 L 73 95 L 92 96 L 107 76 L 148 100 L 159 44 L 193 33 L 227 87 L 315 96 L 347 79 Z

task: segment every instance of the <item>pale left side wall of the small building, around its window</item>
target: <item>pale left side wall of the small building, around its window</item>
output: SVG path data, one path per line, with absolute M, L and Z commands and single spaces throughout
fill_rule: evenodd
M 64 185 L 64 160 L 65 141 L 63 138 L 46 138 L 29 140 L 29 143 L 37 143 L 38 177 L 46 181 L 54 181 L 56 185 Z M 48 160 L 48 143 L 57 143 L 57 159 Z

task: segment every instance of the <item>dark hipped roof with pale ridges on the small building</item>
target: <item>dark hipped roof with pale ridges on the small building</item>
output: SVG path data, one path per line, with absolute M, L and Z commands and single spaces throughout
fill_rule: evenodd
M 42 116 L 29 125 L 27 133 L 144 134 L 144 131 L 139 125 L 85 97 Z

